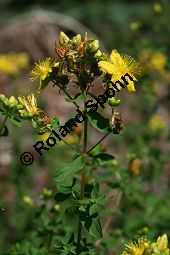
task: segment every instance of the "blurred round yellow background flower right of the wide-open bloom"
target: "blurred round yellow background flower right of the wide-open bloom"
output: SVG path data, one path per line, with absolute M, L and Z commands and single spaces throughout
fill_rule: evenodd
M 151 55 L 150 64 L 152 69 L 161 71 L 164 69 L 167 61 L 167 56 L 161 52 L 154 52 Z

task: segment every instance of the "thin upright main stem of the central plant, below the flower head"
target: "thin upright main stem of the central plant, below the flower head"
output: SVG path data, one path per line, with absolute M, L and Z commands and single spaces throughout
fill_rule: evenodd
M 84 114 L 86 115 L 85 108 L 84 108 Z M 88 119 L 85 119 L 84 120 L 84 139 L 83 139 L 83 155 L 85 157 L 87 156 L 87 130 L 88 130 Z M 84 165 L 82 170 L 80 199 L 83 199 L 83 196 L 84 196 L 85 182 L 86 182 L 86 164 Z M 82 224 L 81 224 L 80 215 L 79 215 L 78 234 L 77 234 L 78 254 L 80 253 L 81 229 L 82 229 Z

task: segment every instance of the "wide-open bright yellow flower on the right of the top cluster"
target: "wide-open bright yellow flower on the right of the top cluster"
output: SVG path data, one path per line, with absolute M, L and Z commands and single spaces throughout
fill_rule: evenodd
M 121 79 L 126 73 L 128 73 L 135 81 L 134 74 L 139 73 L 139 65 L 136 61 L 128 55 L 120 55 L 117 50 L 112 50 L 110 55 L 110 61 L 100 61 L 98 63 L 99 68 L 108 74 L 111 74 L 111 81 L 114 83 Z M 128 91 L 136 91 L 134 87 L 134 82 L 127 78 L 128 81 Z M 120 85 L 117 85 L 118 89 L 121 89 Z

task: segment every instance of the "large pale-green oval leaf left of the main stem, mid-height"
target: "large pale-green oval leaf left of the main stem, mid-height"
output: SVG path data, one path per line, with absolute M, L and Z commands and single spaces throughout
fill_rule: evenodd
M 65 181 L 68 177 L 73 176 L 83 168 L 85 161 L 84 157 L 78 155 L 72 161 L 62 164 L 56 171 L 56 181 Z

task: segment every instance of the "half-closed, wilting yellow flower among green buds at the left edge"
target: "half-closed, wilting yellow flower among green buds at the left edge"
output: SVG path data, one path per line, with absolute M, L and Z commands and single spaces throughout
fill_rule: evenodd
M 20 96 L 18 100 L 28 113 L 32 113 L 33 115 L 38 113 L 37 101 L 33 93 L 28 95 L 27 99 L 24 96 Z

